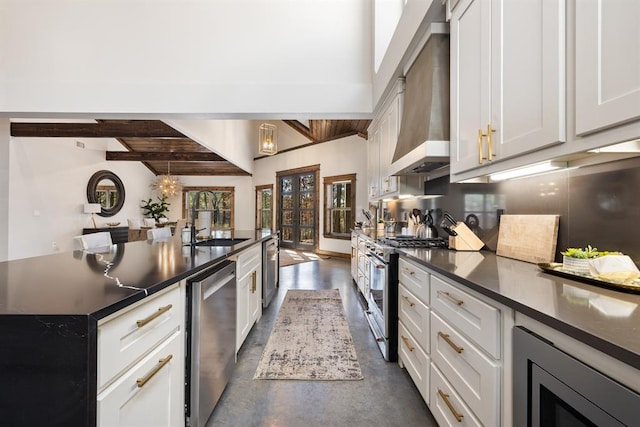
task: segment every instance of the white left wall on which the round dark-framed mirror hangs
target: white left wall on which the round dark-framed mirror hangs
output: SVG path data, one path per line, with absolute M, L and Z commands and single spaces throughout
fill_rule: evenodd
M 0 135 L 9 135 L 8 129 Z M 95 216 L 98 226 L 111 221 L 126 226 L 127 218 L 142 218 L 141 200 L 153 195 L 149 185 L 154 175 L 140 162 L 107 162 L 107 147 L 122 149 L 107 140 L 85 140 L 83 149 L 75 139 L 10 138 L 6 259 L 72 250 L 73 236 L 93 226 L 83 206 L 87 183 L 99 170 L 118 175 L 126 197 L 120 213 Z

